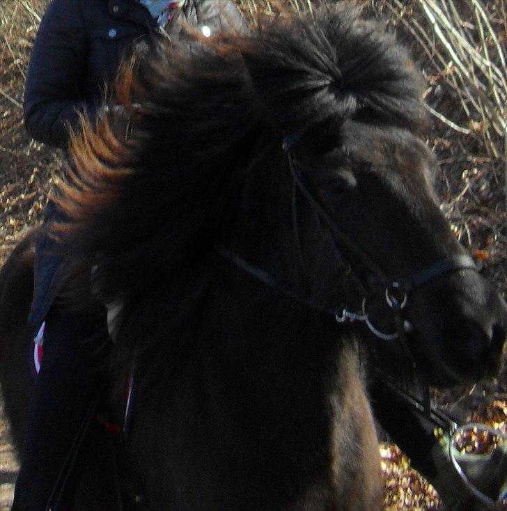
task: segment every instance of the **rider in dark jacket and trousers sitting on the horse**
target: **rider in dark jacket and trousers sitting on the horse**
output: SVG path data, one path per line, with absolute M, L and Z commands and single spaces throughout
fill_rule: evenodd
M 120 59 L 157 32 L 178 39 L 182 20 L 209 35 L 243 31 L 232 0 L 52 0 L 42 18 L 26 77 L 24 120 L 34 139 L 67 148 L 79 113 L 100 115 L 104 84 Z M 61 221 L 49 202 L 45 225 Z M 44 322 L 44 356 L 31 404 L 14 510 L 47 508 L 106 372 L 109 336 L 104 306 L 91 300 L 76 310 L 56 300 L 65 268 L 58 245 L 44 229 L 36 239 L 35 288 L 29 321 Z M 91 320 L 91 318 L 94 318 Z M 102 362 L 102 363 L 100 363 Z

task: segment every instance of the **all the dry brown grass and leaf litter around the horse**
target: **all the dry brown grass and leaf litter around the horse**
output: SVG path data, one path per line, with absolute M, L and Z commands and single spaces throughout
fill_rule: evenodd
M 270 15 L 280 6 L 312 10 L 320 3 L 236 1 L 247 19 Z M 26 65 L 48 2 L 0 0 L 0 262 L 24 229 L 40 221 L 51 177 L 61 166 L 61 153 L 31 141 L 22 126 Z M 442 210 L 455 235 L 505 293 L 506 0 L 369 0 L 365 8 L 396 29 L 423 69 L 426 102 L 435 118 L 428 143 L 439 157 Z M 483 393 L 505 400 L 506 386 L 504 378 L 476 388 L 460 400 L 463 413 L 476 413 L 481 400 L 487 404 Z M 437 496 L 405 459 L 394 458 L 391 463 L 384 457 L 391 478 L 386 509 L 416 509 L 421 502 L 426 505 L 419 509 L 434 509 Z M 403 489 L 403 478 L 409 478 L 408 487 L 419 488 L 412 496 Z

